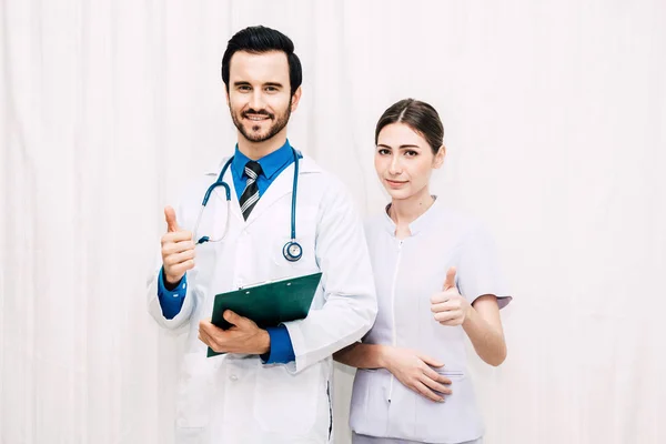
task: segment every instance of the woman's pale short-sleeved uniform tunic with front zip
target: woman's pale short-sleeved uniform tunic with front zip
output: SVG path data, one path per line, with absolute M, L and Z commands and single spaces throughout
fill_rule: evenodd
M 395 224 L 385 212 L 366 224 L 380 311 L 363 342 L 412 349 L 443 362 L 445 366 L 435 371 L 452 381 L 453 394 L 435 403 L 384 369 L 359 370 L 350 425 L 362 435 L 411 442 L 477 440 L 484 430 L 467 376 L 465 332 L 460 325 L 436 322 L 430 299 L 442 290 L 451 266 L 457 268 L 457 287 L 470 303 L 494 294 L 503 307 L 511 296 L 493 242 L 477 221 L 435 200 L 410 224 L 410 232 L 411 236 L 396 239 Z

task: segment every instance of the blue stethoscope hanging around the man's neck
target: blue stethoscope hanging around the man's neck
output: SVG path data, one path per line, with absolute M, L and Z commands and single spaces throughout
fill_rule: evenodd
M 292 152 L 294 154 L 294 180 L 293 180 L 293 189 L 292 189 L 292 214 L 291 214 L 291 240 L 284 244 L 282 248 L 282 255 L 290 262 L 296 262 L 303 255 L 303 249 L 301 244 L 296 242 L 296 190 L 299 188 L 299 153 L 296 150 L 292 148 Z M 201 202 L 201 210 L 199 211 L 199 216 L 196 218 L 196 223 L 194 224 L 194 234 L 199 231 L 199 222 L 201 222 L 201 215 L 203 214 L 203 210 L 211 198 L 211 193 L 218 186 L 223 186 L 224 192 L 226 194 L 226 223 L 224 223 L 224 232 L 222 233 L 222 238 L 220 239 L 211 239 L 210 236 L 201 236 L 196 241 L 196 245 L 201 245 L 205 242 L 220 242 L 226 236 L 226 232 L 229 231 L 229 214 L 231 213 L 231 189 L 229 184 L 224 182 L 224 173 L 231 165 L 233 161 L 233 157 L 226 161 L 224 167 L 222 168 L 222 172 L 218 176 L 218 180 L 213 182 L 212 185 L 205 191 L 203 195 L 203 201 Z

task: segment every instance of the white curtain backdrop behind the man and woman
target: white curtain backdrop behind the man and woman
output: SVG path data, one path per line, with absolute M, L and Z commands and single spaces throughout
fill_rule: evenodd
M 473 363 L 485 442 L 665 443 L 664 0 L 1 0 L 0 442 L 173 442 L 182 339 L 145 274 L 163 206 L 233 149 L 220 60 L 259 23 L 303 61 L 290 140 L 364 214 L 381 112 L 441 112 L 434 191 L 515 294 L 507 361 Z

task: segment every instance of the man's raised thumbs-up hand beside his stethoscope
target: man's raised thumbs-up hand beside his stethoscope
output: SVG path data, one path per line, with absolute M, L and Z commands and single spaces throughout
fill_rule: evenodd
M 175 211 L 171 206 L 164 209 L 167 234 L 162 236 L 162 264 L 164 280 L 178 285 L 188 270 L 194 268 L 194 242 L 192 233 L 182 230 L 175 221 Z

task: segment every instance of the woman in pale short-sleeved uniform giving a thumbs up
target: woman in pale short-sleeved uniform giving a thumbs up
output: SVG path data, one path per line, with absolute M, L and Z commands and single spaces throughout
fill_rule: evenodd
M 488 234 L 446 209 L 428 183 L 446 153 L 435 109 L 406 99 L 375 130 L 375 170 L 391 203 L 366 226 L 379 315 L 335 354 L 357 367 L 353 443 L 481 443 L 465 335 L 491 365 L 506 356 L 500 309 L 511 296 Z

